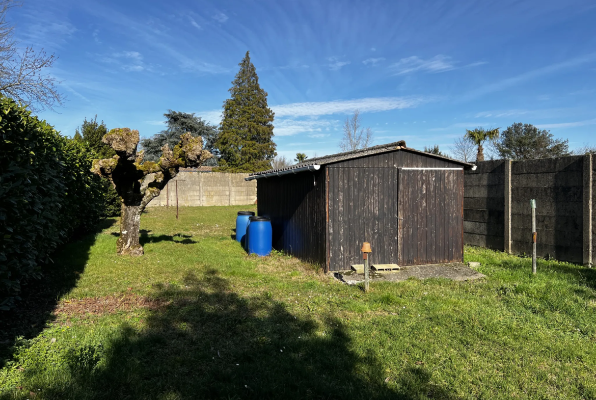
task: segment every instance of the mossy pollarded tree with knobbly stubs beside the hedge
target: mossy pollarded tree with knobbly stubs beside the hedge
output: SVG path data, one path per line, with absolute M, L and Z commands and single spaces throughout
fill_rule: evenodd
M 203 138 L 193 137 L 188 132 L 170 149 L 162 147 L 162 157 L 158 162 L 143 162 L 143 152 L 136 152 L 139 144 L 139 131 L 129 128 L 116 128 L 104 136 L 103 142 L 116 151 L 111 159 L 93 160 L 91 171 L 110 179 L 122 197 L 120 216 L 120 237 L 116 245 L 120 255 L 140 256 L 143 247 L 139 243 L 141 213 L 147 204 L 166 187 L 167 182 L 178 175 L 180 168 L 198 167 L 210 159 L 211 153 L 203 150 Z M 144 185 L 145 176 L 153 173 L 154 179 Z

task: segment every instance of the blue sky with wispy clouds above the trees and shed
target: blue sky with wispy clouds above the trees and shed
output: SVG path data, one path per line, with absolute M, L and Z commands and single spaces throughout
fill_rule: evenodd
M 244 53 L 278 153 L 336 153 L 355 108 L 374 144 L 448 150 L 466 128 L 524 122 L 596 144 L 592 1 L 24 0 L 22 45 L 59 59 L 66 135 L 98 114 L 148 137 L 167 109 L 213 123 Z

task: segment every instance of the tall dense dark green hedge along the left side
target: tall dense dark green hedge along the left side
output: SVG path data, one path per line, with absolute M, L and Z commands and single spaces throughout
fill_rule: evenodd
M 104 215 L 105 194 L 89 172 L 85 144 L 0 98 L 0 310 L 19 300 L 21 285 L 76 231 Z

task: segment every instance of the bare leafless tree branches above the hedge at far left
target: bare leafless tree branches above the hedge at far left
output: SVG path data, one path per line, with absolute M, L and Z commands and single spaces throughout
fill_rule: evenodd
M 19 5 L 15 0 L 0 0 L 0 93 L 34 111 L 53 110 L 65 100 L 56 87 L 60 82 L 46 73 L 57 57 L 46 54 L 44 49 L 18 48 L 14 25 L 7 21 L 7 13 Z

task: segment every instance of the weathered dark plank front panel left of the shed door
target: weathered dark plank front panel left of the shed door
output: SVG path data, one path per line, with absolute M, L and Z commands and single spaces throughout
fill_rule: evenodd
M 370 263 L 398 262 L 398 169 L 328 169 L 329 269 L 362 263 L 360 248 L 370 242 Z

